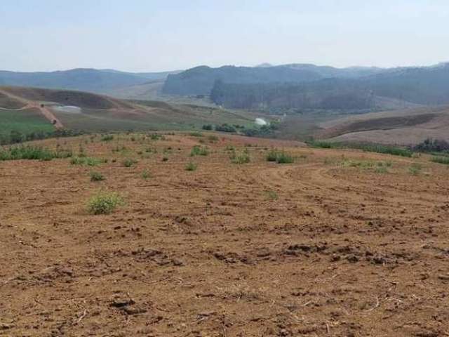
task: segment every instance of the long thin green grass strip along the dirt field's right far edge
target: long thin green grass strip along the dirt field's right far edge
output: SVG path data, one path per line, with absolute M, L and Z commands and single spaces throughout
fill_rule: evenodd
M 308 141 L 307 145 L 311 147 L 321 147 L 323 149 L 357 149 L 366 152 L 377 152 L 383 154 L 392 154 L 394 156 L 401 157 L 412 157 L 413 151 L 402 148 L 394 147 L 389 145 L 379 145 L 379 144 L 365 144 L 365 143 L 334 143 L 326 142 L 322 140 L 312 140 Z

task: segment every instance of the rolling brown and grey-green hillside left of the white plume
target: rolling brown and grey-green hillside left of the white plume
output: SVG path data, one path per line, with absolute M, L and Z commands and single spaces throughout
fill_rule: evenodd
M 45 102 L 48 106 L 58 103 L 81 107 L 81 113 L 57 110 L 53 110 L 53 113 L 66 128 L 82 131 L 189 130 L 201 128 L 204 124 L 224 123 L 250 127 L 254 125 L 255 117 L 259 116 L 249 112 L 191 104 L 117 100 L 81 91 L 18 87 L 5 87 L 4 90 L 27 100 Z M 0 117 L 0 121 L 2 120 Z M 29 124 L 34 121 L 22 118 L 21 123 Z M 26 125 L 15 124 L 15 127 L 17 131 L 27 129 Z

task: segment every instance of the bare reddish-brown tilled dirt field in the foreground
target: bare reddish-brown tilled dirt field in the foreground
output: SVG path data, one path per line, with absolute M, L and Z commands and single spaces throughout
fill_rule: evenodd
M 0 161 L 0 336 L 449 336 L 444 165 L 232 136 L 40 144 L 57 143 L 108 162 Z M 98 190 L 126 205 L 88 213 Z

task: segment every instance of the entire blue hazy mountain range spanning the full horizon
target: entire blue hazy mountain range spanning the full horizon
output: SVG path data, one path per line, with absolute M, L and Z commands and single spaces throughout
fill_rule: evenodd
M 173 72 L 0 71 L 0 86 L 71 89 L 134 99 L 206 96 L 224 107 L 270 111 L 394 109 L 449 104 L 449 63 L 396 68 L 263 63 Z

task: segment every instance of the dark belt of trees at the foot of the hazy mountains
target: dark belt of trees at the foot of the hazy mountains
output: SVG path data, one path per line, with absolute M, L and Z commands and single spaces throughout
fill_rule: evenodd
M 217 80 L 210 93 L 217 105 L 234 109 L 364 110 L 375 107 L 373 93 L 354 81 L 328 79 L 307 84 L 227 84 Z

